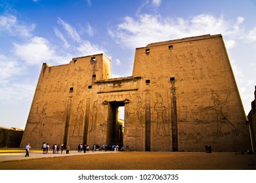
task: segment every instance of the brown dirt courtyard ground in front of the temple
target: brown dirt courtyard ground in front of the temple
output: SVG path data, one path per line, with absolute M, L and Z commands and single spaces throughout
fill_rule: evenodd
M 117 152 L 3 161 L 1 170 L 255 170 L 255 154 Z

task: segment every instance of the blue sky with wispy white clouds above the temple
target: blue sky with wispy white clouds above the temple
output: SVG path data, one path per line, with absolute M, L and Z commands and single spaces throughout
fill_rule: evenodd
M 104 53 L 131 76 L 135 48 L 222 34 L 245 113 L 256 85 L 256 1 L 0 0 L 0 126 L 24 129 L 41 65 Z

